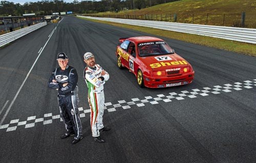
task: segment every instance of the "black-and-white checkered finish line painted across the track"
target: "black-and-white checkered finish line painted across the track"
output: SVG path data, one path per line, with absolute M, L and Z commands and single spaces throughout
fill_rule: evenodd
M 234 84 L 224 84 L 224 86 L 216 85 L 213 88 L 204 87 L 200 89 L 192 89 L 192 91 L 181 91 L 179 94 L 176 92 L 170 92 L 168 95 L 157 95 L 153 98 L 151 96 L 146 96 L 145 99 L 140 100 L 138 98 L 131 99 L 132 101 L 126 102 L 125 100 L 117 101 L 117 104 L 112 104 L 111 102 L 105 103 L 105 108 L 108 112 L 116 111 L 117 108 L 129 109 L 132 105 L 137 105 L 138 107 L 145 106 L 145 103 L 150 103 L 152 105 L 159 104 L 159 102 L 172 102 L 174 100 L 184 100 L 187 98 L 197 98 L 201 96 L 209 96 L 211 94 L 221 94 L 224 92 L 231 92 L 233 90 L 243 90 L 250 89 L 256 86 L 256 79 L 253 81 L 246 80 L 243 83 L 236 82 Z M 86 117 L 86 113 L 90 112 L 90 109 L 78 108 L 80 111 L 80 118 Z M 82 113 L 81 113 L 82 112 Z M 51 124 L 54 120 L 62 121 L 60 115 L 52 115 L 52 113 L 44 114 L 43 118 L 36 118 L 36 116 L 28 117 L 26 121 L 19 121 L 19 119 L 11 120 L 9 124 L 1 125 L 0 129 L 6 129 L 6 132 L 15 131 L 18 126 L 25 126 L 25 128 L 35 127 L 36 123 L 42 122 L 43 125 Z

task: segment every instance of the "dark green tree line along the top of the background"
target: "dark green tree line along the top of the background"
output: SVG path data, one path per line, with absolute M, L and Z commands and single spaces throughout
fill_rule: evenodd
M 98 12 L 118 12 L 120 10 L 143 9 L 159 4 L 180 0 L 101 0 L 101 1 L 81 1 L 74 0 L 66 3 L 63 0 L 48 0 L 38 2 L 27 2 L 23 5 L 9 1 L 1 1 L 0 16 L 22 16 L 26 13 L 36 15 L 52 15 L 55 12 L 73 13 L 98 13 Z

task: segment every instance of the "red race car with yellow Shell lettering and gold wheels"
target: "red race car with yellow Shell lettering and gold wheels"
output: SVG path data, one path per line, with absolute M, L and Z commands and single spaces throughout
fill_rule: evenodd
M 117 65 L 128 68 L 140 87 L 160 88 L 191 83 L 192 66 L 156 37 L 120 38 L 116 48 Z

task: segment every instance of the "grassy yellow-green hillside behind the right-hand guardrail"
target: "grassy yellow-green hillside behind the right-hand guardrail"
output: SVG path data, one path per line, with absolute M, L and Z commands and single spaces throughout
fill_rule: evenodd
M 241 27 L 242 12 L 245 12 L 244 27 L 256 28 L 255 0 L 183 0 L 141 10 L 97 15 L 175 22 L 176 14 L 176 22 Z

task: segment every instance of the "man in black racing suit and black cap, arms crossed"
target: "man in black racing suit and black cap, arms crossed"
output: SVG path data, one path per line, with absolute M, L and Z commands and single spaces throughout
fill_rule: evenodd
M 75 135 L 71 142 L 75 144 L 82 139 L 82 125 L 78 110 L 78 75 L 76 69 L 68 65 L 69 59 L 65 53 L 59 53 L 57 61 L 59 67 L 52 72 L 48 87 L 58 90 L 60 117 L 67 130 L 61 138 Z

